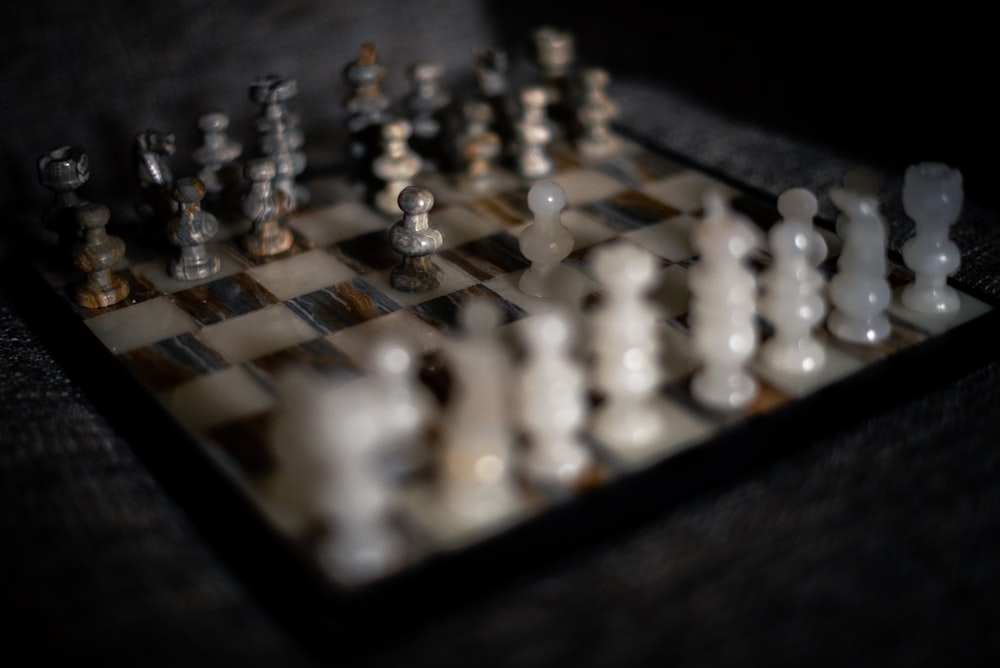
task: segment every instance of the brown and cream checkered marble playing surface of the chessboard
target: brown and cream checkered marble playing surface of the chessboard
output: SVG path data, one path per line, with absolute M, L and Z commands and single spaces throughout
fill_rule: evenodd
M 518 288 L 518 278 L 529 266 L 519 251 L 518 236 L 531 220 L 526 204 L 530 181 L 505 172 L 494 192 L 476 194 L 445 174 L 417 178 L 434 193 L 431 218 L 444 236 L 434 258 L 444 282 L 426 293 L 391 287 L 389 275 L 399 262 L 388 243 L 395 219 L 352 194 L 337 174 L 308 184 L 311 201 L 291 214 L 288 224 L 295 243 L 281 255 L 248 255 L 236 242 L 245 221 L 220 216 L 221 230 L 211 247 L 222 258 L 222 268 L 207 279 L 170 278 L 166 256 L 158 247 L 141 237 L 127 237 L 124 228 L 118 232 L 126 242 L 126 257 L 115 271 L 128 281 L 130 294 L 119 304 L 83 308 L 71 293 L 80 280 L 78 272 L 52 270 L 40 258 L 32 266 L 41 281 L 40 293 L 50 300 L 50 312 L 66 316 L 61 322 L 67 333 L 60 336 L 76 332 L 79 350 L 101 351 L 97 361 L 108 370 L 102 381 L 112 385 L 98 392 L 105 397 L 119 393 L 123 402 L 129 395 L 169 426 L 167 433 L 183 439 L 155 447 L 179 451 L 190 446 L 205 455 L 204 463 L 220 488 L 247 502 L 245 510 L 260 528 L 260 539 L 276 538 L 289 547 L 301 560 L 295 567 L 315 569 L 318 582 L 335 597 L 363 594 L 373 585 L 391 588 L 396 581 L 413 585 L 436 564 L 447 564 L 449 573 L 457 575 L 463 560 L 473 558 L 469 555 L 476 555 L 480 564 L 493 563 L 494 546 L 496 554 L 520 551 L 521 558 L 510 563 L 530 563 L 543 552 L 536 553 L 532 542 L 541 533 L 552 543 L 571 546 L 573 527 L 587 526 L 589 531 L 597 526 L 598 516 L 627 514 L 628 496 L 623 492 L 630 487 L 641 487 L 645 498 L 667 498 L 674 493 L 671 485 L 697 485 L 688 476 L 696 464 L 701 470 L 697 480 L 709 479 L 713 466 L 739 468 L 734 462 L 747 463 L 753 458 L 748 453 L 757 452 L 751 448 L 760 448 L 767 438 L 792 438 L 786 424 L 829 425 L 851 414 L 848 397 L 861 398 L 866 391 L 891 388 L 894 378 L 905 379 L 897 376 L 904 362 L 894 360 L 905 360 L 914 369 L 925 357 L 937 360 L 929 364 L 939 364 L 947 358 L 933 355 L 942 346 L 950 350 L 958 345 L 953 339 L 978 335 L 982 323 L 995 319 L 994 305 L 967 292 L 961 293 L 957 314 L 929 316 L 907 310 L 898 295 L 912 274 L 890 258 L 894 299 L 887 340 L 845 343 L 820 327 L 817 334 L 827 352 L 822 371 L 805 379 L 783 378 L 752 366 L 760 390 L 748 409 L 726 414 L 706 410 L 688 390 L 698 362 L 691 353 L 687 322 L 688 272 L 697 261 L 690 237 L 703 215 L 703 196 L 709 189 L 722 193 L 762 231 L 779 215 L 766 197 L 640 141 L 621 139 L 619 155 L 597 162 L 583 159 L 565 144 L 552 148 L 557 170 L 551 178 L 565 191 L 562 220 L 574 238 L 573 252 L 563 264 L 581 286 L 585 314 L 602 298 L 602 286 L 588 264 L 595 249 L 623 241 L 657 258 L 659 277 L 652 298 L 663 315 L 661 395 L 669 432 L 642 448 L 614 447 L 589 438 L 597 471 L 586 485 L 558 498 L 526 489 L 506 516 L 484 526 L 449 521 L 436 504 L 433 477 L 403 480 L 396 493 L 408 553 L 398 569 L 374 583 L 352 580 L 318 563 L 311 538 L 292 530 L 274 512 L 268 490 L 279 474 L 282 448 L 270 428 L 280 403 L 278 381 L 285 371 L 305 366 L 332 383 L 355 382 L 365 373 L 373 342 L 403 332 L 424 355 L 429 368 L 423 377 L 432 384 L 436 370 L 430 366 L 440 360 L 437 353 L 461 336 L 458 312 L 470 300 L 496 306 L 502 313 L 500 327 L 516 340 L 525 321 L 551 306 Z M 817 222 L 829 249 L 821 270 L 829 277 L 836 271 L 842 244 L 832 227 Z M 760 250 L 752 260 L 759 271 L 770 258 Z M 762 336 L 766 338 L 766 328 Z M 922 373 L 914 371 L 910 377 Z M 116 378 L 123 380 L 120 387 L 112 382 Z M 876 382 L 880 379 L 885 383 Z M 135 415 L 126 420 L 134 421 Z M 142 429 L 140 425 L 140 433 Z M 147 429 L 152 437 L 155 429 Z M 802 442 L 808 442 L 810 432 L 805 429 L 801 436 L 796 433 Z M 699 459 L 699 453 L 710 457 Z M 160 459 L 169 456 L 158 453 Z M 679 478 L 680 471 L 684 474 Z M 593 525 L 589 514 L 595 518 Z M 532 533 L 533 527 L 544 531 Z M 490 577 L 500 570 L 491 571 Z

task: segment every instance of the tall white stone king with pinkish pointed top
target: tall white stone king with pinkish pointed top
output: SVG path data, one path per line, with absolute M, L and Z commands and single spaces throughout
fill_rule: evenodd
M 701 366 L 691 392 L 707 407 L 737 410 L 757 394 L 746 371 L 757 350 L 757 281 L 744 264 L 757 234 L 717 192 L 706 193 L 704 208 L 692 238 L 700 257 L 691 268 L 690 326 Z

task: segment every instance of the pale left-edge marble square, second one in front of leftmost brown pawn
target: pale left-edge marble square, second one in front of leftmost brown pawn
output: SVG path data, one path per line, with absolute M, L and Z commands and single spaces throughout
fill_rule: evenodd
M 239 366 L 199 376 L 159 393 L 157 399 L 192 431 L 253 415 L 275 404 L 274 397 Z

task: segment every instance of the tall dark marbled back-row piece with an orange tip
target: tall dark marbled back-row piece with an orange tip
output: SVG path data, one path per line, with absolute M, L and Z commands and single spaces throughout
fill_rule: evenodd
M 347 110 L 347 152 L 359 184 L 371 181 L 371 162 L 379 149 L 382 124 L 389 120 L 389 99 L 382 92 L 385 67 L 378 62 L 375 45 L 365 42 L 357 58 L 343 70 L 350 93 L 344 99 Z

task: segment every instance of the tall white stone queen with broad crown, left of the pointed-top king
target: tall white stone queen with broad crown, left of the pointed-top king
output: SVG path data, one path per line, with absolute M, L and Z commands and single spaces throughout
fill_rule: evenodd
M 667 429 L 657 405 L 661 380 L 659 310 L 648 298 L 657 262 L 627 242 L 598 247 L 590 258 L 606 300 L 590 319 L 593 384 L 603 395 L 591 425 L 612 446 L 642 449 Z

